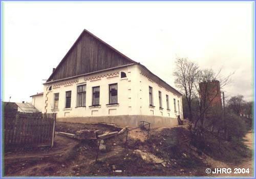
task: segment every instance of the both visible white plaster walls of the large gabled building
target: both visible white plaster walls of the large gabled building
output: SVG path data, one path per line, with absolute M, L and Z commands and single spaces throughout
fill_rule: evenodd
M 119 73 L 113 76 L 104 76 L 106 74 Z M 125 72 L 127 78 L 120 78 L 121 72 Z M 76 79 L 69 79 L 66 81 L 59 81 L 44 85 L 44 99 L 47 101 L 43 107 L 43 113 L 57 113 L 57 118 L 70 118 L 70 117 L 95 117 L 95 116 L 120 116 L 120 115 L 147 115 L 177 118 L 176 115 L 182 115 L 182 101 L 181 96 L 167 91 L 165 88 L 159 86 L 157 83 L 148 80 L 141 73 L 139 65 L 126 66 L 122 69 L 117 69 L 108 72 L 97 73 L 86 77 L 78 77 Z M 101 76 L 101 78 L 96 78 Z M 103 77 L 102 77 L 103 76 Z M 84 78 L 91 78 L 85 80 Z M 63 82 L 75 81 L 70 84 L 63 84 Z M 57 87 L 56 84 L 60 84 Z M 109 104 L 109 84 L 118 84 L 118 105 L 106 106 Z M 86 107 L 76 107 L 77 103 L 77 86 L 86 84 Z M 52 90 L 48 91 L 47 88 L 52 86 Z M 100 86 L 100 105 L 97 107 L 89 107 L 92 105 L 92 87 Z M 149 89 L 148 86 L 153 87 L 153 100 L 154 108 L 150 107 Z M 66 92 L 72 91 L 71 94 L 71 108 L 66 109 Z M 159 109 L 158 91 L 162 92 L 162 107 Z M 58 109 L 53 109 L 54 93 L 59 93 Z M 166 94 L 169 96 L 170 110 L 166 107 Z M 174 101 L 178 110 L 178 100 L 180 101 L 180 113 L 174 111 Z M 47 110 L 46 110 L 47 109 Z M 111 109 L 111 110 L 110 110 Z M 160 113 L 162 112 L 162 114 Z

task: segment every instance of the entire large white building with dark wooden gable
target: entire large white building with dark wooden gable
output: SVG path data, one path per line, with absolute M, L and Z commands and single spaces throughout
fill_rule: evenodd
M 44 83 L 42 113 L 57 121 L 177 125 L 182 94 L 87 30 Z

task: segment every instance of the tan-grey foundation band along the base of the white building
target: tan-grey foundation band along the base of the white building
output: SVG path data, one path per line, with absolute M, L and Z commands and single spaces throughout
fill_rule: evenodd
M 57 122 L 74 122 L 74 123 L 89 123 L 89 122 L 104 122 L 115 123 L 120 126 L 138 127 L 140 121 L 151 123 L 151 127 L 170 127 L 178 125 L 176 118 L 160 117 L 160 116 L 143 116 L 143 115 L 122 115 L 122 116 L 100 116 L 100 117 L 69 117 L 57 118 Z

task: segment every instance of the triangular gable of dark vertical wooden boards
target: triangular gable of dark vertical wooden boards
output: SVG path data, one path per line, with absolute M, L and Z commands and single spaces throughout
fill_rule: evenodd
M 132 60 L 114 50 L 88 31 L 83 31 L 47 81 L 131 64 Z

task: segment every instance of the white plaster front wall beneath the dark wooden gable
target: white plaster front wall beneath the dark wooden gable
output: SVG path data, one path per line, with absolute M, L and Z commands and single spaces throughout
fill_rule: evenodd
M 97 76 L 106 75 L 110 73 L 118 72 L 119 75 L 101 77 L 95 79 Z M 120 78 L 120 72 L 125 72 L 127 78 Z M 84 78 L 94 78 L 90 80 L 84 80 Z M 54 85 L 63 83 L 65 81 L 54 82 L 44 85 L 44 101 L 47 101 L 42 110 L 43 113 L 57 113 L 57 118 L 64 117 L 91 117 L 91 116 L 118 116 L 118 115 L 139 115 L 138 109 L 138 93 L 135 90 L 139 85 L 139 69 L 137 65 L 126 66 L 122 69 L 117 69 L 108 72 L 97 73 L 94 75 L 79 77 L 76 79 L 66 80 L 78 82 L 72 84 L 62 84 L 57 87 Z M 118 84 L 118 103 L 119 105 L 109 104 L 109 84 Z M 77 86 L 86 84 L 86 107 L 76 107 L 77 103 Z M 48 91 L 47 88 L 52 86 L 52 90 Z M 92 105 L 92 87 L 100 86 L 100 105 L 99 107 L 89 107 Z M 71 94 L 71 108 L 65 109 L 66 92 L 72 91 Z M 59 93 L 58 109 L 53 109 L 54 93 Z M 112 109 L 112 110 L 110 110 Z

